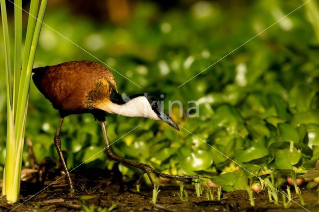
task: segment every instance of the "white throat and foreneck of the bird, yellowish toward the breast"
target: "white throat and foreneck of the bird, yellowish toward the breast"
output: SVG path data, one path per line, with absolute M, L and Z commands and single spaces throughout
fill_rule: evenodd
M 108 102 L 102 104 L 100 107 L 100 109 L 103 109 L 109 113 L 116 113 L 129 117 L 147 117 L 160 120 L 159 116 L 154 112 L 149 101 L 144 96 L 136 97 L 123 105 Z

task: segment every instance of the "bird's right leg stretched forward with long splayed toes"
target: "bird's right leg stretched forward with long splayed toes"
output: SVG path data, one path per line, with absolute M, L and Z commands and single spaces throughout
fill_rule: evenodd
M 147 174 L 148 177 L 150 178 L 150 181 L 152 183 L 152 185 L 154 186 L 154 182 L 151 178 L 150 173 L 154 173 L 162 178 L 167 178 L 167 179 L 172 179 L 172 180 L 178 180 L 178 181 L 183 181 L 183 182 L 192 182 L 192 179 L 199 179 L 199 178 L 205 178 L 205 177 L 200 177 L 200 176 L 178 176 L 178 175 L 167 175 L 164 174 L 162 172 L 159 172 L 155 169 L 153 169 L 151 166 L 149 166 L 148 164 L 144 164 L 144 163 L 138 163 L 136 161 L 132 161 L 132 160 L 128 160 L 125 158 L 122 158 L 118 155 L 116 155 L 111 147 L 110 147 L 110 143 L 109 143 L 109 139 L 108 139 L 108 135 L 106 133 L 106 128 L 105 128 L 105 123 L 104 121 L 100 121 L 100 124 L 102 126 L 102 131 L 103 131 L 103 136 L 104 136 L 104 142 L 105 142 L 105 147 L 106 147 L 106 156 L 112 160 L 121 162 L 121 163 L 125 163 L 128 164 L 130 166 L 134 166 L 137 167 L 139 169 L 141 169 L 142 171 L 142 176 L 139 178 L 139 180 L 134 184 L 135 186 L 140 184 L 142 181 L 142 177 L 144 174 Z

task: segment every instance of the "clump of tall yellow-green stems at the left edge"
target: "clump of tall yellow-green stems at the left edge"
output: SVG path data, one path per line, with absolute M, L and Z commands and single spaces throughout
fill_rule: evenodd
M 6 90 L 7 90 L 7 137 L 6 137 L 6 156 L 5 167 L 3 170 L 2 196 L 6 196 L 9 203 L 15 203 L 19 197 L 20 178 L 21 178 L 21 164 L 24 144 L 24 132 L 28 105 L 28 92 L 31 78 L 31 71 L 33 67 L 35 52 L 37 48 L 38 38 L 41 31 L 42 21 L 45 13 L 45 8 L 48 0 L 42 0 L 39 8 L 39 14 L 36 20 L 35 27 L 32 25 L 34 20 L 30 19 L 28 23 L 28 32 L 26 44 L 23 55 L 22 72 L 20 76 L 21 67 L 21 37 L 22 37 L 22 8 L 21 0 L 15 1 L 15 33 L 14 33 L 14 82 L 13 82 L 13 96 L 11 87 L 11 68 L 10 68 L 10 53 L 9 53 L 9 38 L 8 27 L 5 11 L 5 1 L 1 0 L 1 14 L 3 37 L 5 43 L 5 57 L 6 57 Z M 31 0 L 30 11 L 36 14 L 38 8 L 38 0 Z M 31 16 L 31 18 L 35 18 Z M 30 46 L 30 47 L 29 47 Z M 24 66 L 23 66 L 24 64 Z M 26 64 L 26 65 L 25 65 Z M 26 67 L 26 68 L 25 68 Z M 23 70 L 24 68 L 24 70 Z M 19 91 L 17 92 L 17 83 L 19 84 Z

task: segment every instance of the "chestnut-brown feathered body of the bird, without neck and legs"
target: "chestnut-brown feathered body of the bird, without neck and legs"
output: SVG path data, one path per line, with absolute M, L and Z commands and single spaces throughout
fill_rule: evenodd
M 113 74 L 105 66 L 92 61 L 65 62 L 35 68 L 33 72 L 35 86 L 58 110 L 93 109 L 92 93 L 103 95 L 96 98 L 109 99 L 112 90 L 117 91 Z

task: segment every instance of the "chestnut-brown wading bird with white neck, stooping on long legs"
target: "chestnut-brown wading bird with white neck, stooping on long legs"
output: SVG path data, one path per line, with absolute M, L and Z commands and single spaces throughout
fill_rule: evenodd
M 106 156 L 111 160 L 137 167 L 141 170 L 140 178 L 131 188 L 141 183 L 144 174 L 148 175 L 153 186 L 154 181 L 151 177 L 151 173 L 162 178 L 184 182 L 192 182 L 192 179 L 200 178 L 199 176 L 164 174 L 148 164 L 122 158 L 112 151 L 105 124 L 106 115 L 108 113 L 162 120 L 174 129 L 179 130 L 177 124 L 163 112 L 160 101 L 154 96 L 148 93 L 142 93 L 123 99 L 118 93 L 112 72 L 107 67 L 92 61 L 64 62 L 53 66 L 33 68 L 32 72 L 34 73 L 32 75 L 34 85 L 60 114 L 53 141 L 66 174 L 71 194 L 75 193 L 75 188 L 61 151 L 60 131 L 63 119 L 72 114 L 93 114 L 102 128 Z

